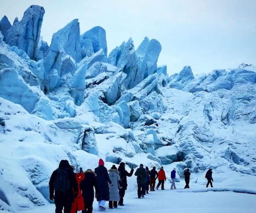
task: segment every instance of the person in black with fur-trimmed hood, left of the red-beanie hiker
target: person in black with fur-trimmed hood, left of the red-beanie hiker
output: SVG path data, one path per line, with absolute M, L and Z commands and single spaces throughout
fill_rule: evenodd
M 98 188 L 96 185 L 96 173 L 88 169 L 84 172 L 84 179 L 80 183 L 80 189 L 82 191 L 82 196 L 84 198 L 84 210 L 82 213 L 92 213 L 93 212 L 93 200 L 94 200 L 94 190 L 96 194 Z

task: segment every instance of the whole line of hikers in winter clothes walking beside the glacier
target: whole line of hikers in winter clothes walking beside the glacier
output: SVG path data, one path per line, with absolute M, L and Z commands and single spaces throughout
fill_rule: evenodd
M 98 210 L 104 211 L 105 202 L 108 202 L 110 209 L 123 206 L 125 190 L 127 189 L 127 177 L 133 175 L 134 169 L 128 172 L 125 170 L 125 163 L 121 162 L 118 169 L 115 165 L 110 170 L 104 166 L 104 161 L 99 159 L 99 166 L 95 168 L 94 172 L 87 169 L 83 172 L 80 168 L 78 173 L 74 173 L 75 168 L 70 166 L 67 160 L 61 160 L 58 169 L 53 171 L 49 180 L 49 199 L 54 200 L 55 213 L 77 213 L 82 210 L 82 213 L 93 212 L 94 190 L 95 197 L 98 201 Z M 137 176 L 137 193 L 138 198 L 144 198 L 148 194 L 148 190 L 155 190 L 155 183 L 158 179 L 156 189 L 161 186 L 164 190 L 164 182 L 166 181 L 166 174 L 163 167 L 157 172 L 156 167 L 149 170 L 148 167 L 140 164 L 136 170 Z M 189 188 L 189 179 L 191 173 L 186 169 L 183 173 L 185 177 L 185 189 Z M 212 170 L 209 169 L 205 176 L 209 184 L 212 186 Z M 171 172 L 172 185 L 171 190 L 176 189 L 175 186 L 176 169 Z

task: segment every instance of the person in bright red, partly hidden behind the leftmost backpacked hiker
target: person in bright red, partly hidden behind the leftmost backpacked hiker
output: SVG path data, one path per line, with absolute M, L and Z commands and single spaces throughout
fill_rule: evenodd
M 70 213 L 77 213 L 78 211 L 84 210 L 84 198 L 82 196 L 81 193 L 81 189 L 79 184 L 81 183 L 81 181 L 84 179 L 84 172 L 82 170 L 82 168 L 80 167 L 79 173 L 76 174 L 76 181 L 78 184 L 78 196 L 76 197 L 76 199 L 74 200 L 73 204 L 72 204 L 72 209 L 70 211 Z

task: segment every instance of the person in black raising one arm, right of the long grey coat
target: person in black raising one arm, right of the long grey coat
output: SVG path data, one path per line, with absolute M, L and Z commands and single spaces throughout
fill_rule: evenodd
M 119 171 L 119 176 L 120 176 L 120 188 L 119 188 L 119 197 L 120 197 L 120 200 L 118 202 L 118 205 L 119 206 L 123 206 L 124 205 L 124 196 L 125 196 L 125 190 L 127 190 L 127 177 L 131 177 L 133 172 L 134 172 L 134 169 L 131 168 L 131 171 L 130 173 L 128 173 L 126 170 L 125 170 L 125 163 L 124 162 L 121 162 L 119 164 L 119 167 L 118 167 L 118 171 Z

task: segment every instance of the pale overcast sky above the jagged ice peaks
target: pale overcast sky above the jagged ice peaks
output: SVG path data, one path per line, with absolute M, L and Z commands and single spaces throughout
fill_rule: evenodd
M 45 9 L 41 36 L 79 18 L 81 34 L 106 30 L 108 54 L 129 37 L 135 48 L 145 36 L 162 45 L 158 65 L 168 73 L 190 65 L 197 73 L 256 65 L 256 0 L 1 0 L 0 17 L 12 23 L 32 4 Z

